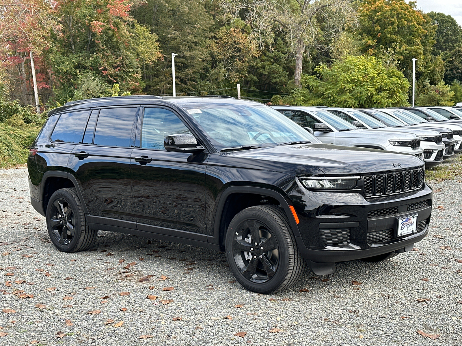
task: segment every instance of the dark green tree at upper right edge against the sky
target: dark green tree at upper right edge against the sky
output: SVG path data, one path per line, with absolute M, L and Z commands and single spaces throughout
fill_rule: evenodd
M 462 28 L 456 19 L 441 12 L 428 12 L 427 15 L 432 18 L 432 24 L 437 25 L 433 46 L 435 55 L 462 46 Z

